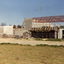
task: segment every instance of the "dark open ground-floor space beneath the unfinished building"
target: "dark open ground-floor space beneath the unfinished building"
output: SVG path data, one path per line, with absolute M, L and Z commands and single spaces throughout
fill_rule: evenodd
M 32 37 L 34 38 L 55 38 L 55 31 L 51 30 L 49 32 L 36 32 L 32 31 Z

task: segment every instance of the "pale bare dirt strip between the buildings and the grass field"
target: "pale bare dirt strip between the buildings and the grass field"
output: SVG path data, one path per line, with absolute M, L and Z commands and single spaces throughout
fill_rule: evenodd
M 0 43 L 18 43 L 18 44 L 48 44 L 48 45 L 64 45 L 64 41 L 36 41 L 34 39 L 15 39 L 15 38 L 0 38 Z

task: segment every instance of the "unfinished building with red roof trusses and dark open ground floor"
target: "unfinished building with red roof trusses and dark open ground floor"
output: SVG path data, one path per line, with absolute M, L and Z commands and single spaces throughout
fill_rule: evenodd
M 64 16 L 25 18 L 22 26 L 30 32 L 31 37 L 64 38 L 64 29 L 53 24 L 55 22 L 64 22 Z

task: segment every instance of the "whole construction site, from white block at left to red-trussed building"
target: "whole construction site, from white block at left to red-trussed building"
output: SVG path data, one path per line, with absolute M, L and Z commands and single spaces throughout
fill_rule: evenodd
M 25 18 L 20 29 L 0 26 L 0 37 L 16 38 L 64 38 L 64 16 Z

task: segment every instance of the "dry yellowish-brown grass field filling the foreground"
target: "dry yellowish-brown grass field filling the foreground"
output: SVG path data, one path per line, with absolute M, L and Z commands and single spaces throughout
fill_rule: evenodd
M 64 64 L 64 46 L 0 45 L 0 64 Z

